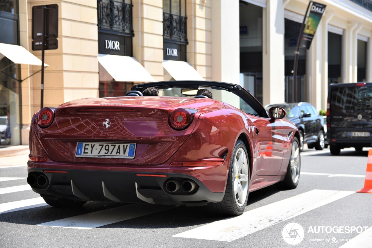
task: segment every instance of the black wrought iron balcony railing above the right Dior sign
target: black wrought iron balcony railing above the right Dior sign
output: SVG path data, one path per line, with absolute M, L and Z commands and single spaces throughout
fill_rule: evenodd
M 187 44 L 187 17 L 163 12 L 163 37 Z

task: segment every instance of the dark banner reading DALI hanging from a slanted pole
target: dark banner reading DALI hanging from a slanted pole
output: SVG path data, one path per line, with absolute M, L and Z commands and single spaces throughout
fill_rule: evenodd
M 309 49 L 320 19 L 325 11 L 325 4 L 310 1 L 310 12 L 307 16 L 304 32 L 302 32 L 301 47 Z

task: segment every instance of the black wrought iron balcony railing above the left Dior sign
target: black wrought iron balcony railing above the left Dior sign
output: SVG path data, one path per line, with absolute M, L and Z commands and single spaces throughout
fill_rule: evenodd
M 113 0 L 97 0 L 98 28 L 133 36 L 132 4 Z

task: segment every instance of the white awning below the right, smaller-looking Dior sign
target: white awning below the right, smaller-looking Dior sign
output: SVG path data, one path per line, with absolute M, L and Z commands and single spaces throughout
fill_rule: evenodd
M 185 61 L 163 60 L 163 67 L 175 80 L 205 80 Z

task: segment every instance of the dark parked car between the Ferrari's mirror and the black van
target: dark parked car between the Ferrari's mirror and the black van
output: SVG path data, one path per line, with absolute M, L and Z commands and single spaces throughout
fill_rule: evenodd
M 284 108 L 287 112 L 286 119 L 296 125 L 300 133 L 301 151 L 304 144 L 309 149 L 324 149 L 324 119 L 317 109 L 308 102 L 295 102 L 283 104 L 270 104 L 265 108 L 273 106 Z

